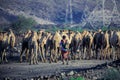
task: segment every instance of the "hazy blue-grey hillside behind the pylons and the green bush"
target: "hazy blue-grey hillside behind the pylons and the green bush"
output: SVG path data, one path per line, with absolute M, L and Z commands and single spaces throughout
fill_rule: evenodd
M 112 14 L 114 11 L 115 3 L 113 1 L 105 0 L 105 16 Z M 116 8 L 120 13 L 120 0 L 115 0 L 115 2 Z M 32 17 L 39 24 L 63 24 L 65 23 L 68 3 L 68 0 L 0 0 L 0 20 L 2 21 L 0 24 L 10 23 L 11 19 L 15 20 L 14 16 L 21 14 Z M 93 27 L 101 27 L 99 24 L 102 23 L 103 18 L 100 17 L 102 13 L 100 6 L 102 6 L 101 0 L 72 0 L 73 23 L 83 27 L 90 21 L 89 24 L 94 25 Z M 11 15 L 13 17 L 10 17 Z M 69 9 L 67 16 L 70 16 Z M 110 16 L 110 18 L 105 18 L 107 24 L 113 17 L 112 15 Z M 120 23 L 120 15 L 117 14 L 117 18 L 118 20 L 115 22 Z M 96 24 L 97 21 L 99 23 Z M 119 24 L 117 25 L 119 26 Z

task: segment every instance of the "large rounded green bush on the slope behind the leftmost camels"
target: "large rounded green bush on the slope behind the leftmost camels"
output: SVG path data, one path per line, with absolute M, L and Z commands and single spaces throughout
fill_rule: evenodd
M 28 29 L 32 29 L 32 27 L 36 24 L 37 22 L 32 18 L 26 18 L 23 15 L 20 15 L 18 20 L 12 23 L 11 28 L 21 33 L 27 31 Z

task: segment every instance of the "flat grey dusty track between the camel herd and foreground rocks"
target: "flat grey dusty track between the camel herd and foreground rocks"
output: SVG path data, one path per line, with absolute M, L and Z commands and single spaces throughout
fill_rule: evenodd
M 38 65 L 10 62 L 0 64 L 0 79 L 28 79 L 39 76 L 59 75 L 69 71 L 79 72 L 83 69 L 109 62 L 107 60 L 74 60 L 69 61 L 69 65 L 62 65 L 61 61 L 58 63 L 39 63 Z

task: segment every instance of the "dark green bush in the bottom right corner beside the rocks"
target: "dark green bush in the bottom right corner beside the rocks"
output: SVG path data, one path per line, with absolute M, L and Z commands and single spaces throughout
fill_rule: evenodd
M 103 78 L 104 80 L 120 80 L 120 71 L 115 68 L 109 68 Z

